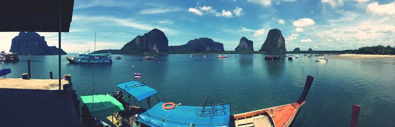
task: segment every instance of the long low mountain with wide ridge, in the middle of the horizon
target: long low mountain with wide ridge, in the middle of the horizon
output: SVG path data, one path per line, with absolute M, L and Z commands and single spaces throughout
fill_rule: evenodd
M 188 41 L 187 44 L 179 46 L 169 46 L 170 52 L 211 52 L 224 51 L 224 45 L 220 42 L 215 42 L 211 38 L 201 37 Z

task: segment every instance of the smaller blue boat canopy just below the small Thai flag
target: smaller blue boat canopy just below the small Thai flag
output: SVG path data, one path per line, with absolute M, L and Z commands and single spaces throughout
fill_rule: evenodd
M 117 84 L 117 86 L 120 89 L 129 93 L 130 95 L 133 95 L 138 101 L 141 101 L 145 98 L 150 97 L 151 95 L 155 95 L 158 93 L 157 90 L 137 81 L 119 83 Z

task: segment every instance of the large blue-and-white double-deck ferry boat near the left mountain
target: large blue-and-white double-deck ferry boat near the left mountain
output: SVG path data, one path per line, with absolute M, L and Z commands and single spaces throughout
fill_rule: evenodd
M 113 64 L 111 53 L 92 54 L 89 50 L 86 53 L 79 53 L 78 56 L 66 56 L 70 64 Z

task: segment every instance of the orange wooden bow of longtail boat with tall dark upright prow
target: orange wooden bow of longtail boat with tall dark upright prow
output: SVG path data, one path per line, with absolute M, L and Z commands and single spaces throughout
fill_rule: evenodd
M 305 88 L 296 102 L 233 115 L 235 127 L 289 127 L 299 109 L 306 103 L 313 79 L 312 76 L 307 76 Z

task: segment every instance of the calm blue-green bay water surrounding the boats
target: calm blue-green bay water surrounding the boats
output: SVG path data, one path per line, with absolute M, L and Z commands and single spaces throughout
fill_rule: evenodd
M 395 126 L 395 58 L 337 59 L 315 63 L 313 58 L 265 61 L 262 54 L 237 54 L 217 59 L 216 55 L 159 55 L 144 61 L 143 56 L 121 56 L 113 64 L 68 64 L 62 56 L 62 74 L 71 74 L 78 95 L 119 91 L 117 83 L 133 80 L 132 65 L 143 75 L 139 81 L 157 89 L 168 101 L 202 104 L 207 96 L 214 103 L 229 102 L 232 114 L 295 102 L 307 75 L 314 76 L 306 104 L 294 127 L 348 127 L 352 104 L 361 106 L 358 127 Z M 228 54 L 228 56 L 232 56 Z M 20 56 L 6 78 L 21 78 L 31 60 L 32 78 L 58 75 L 57 56 Z M 128 64 L 126 63 L 128 62 Z

